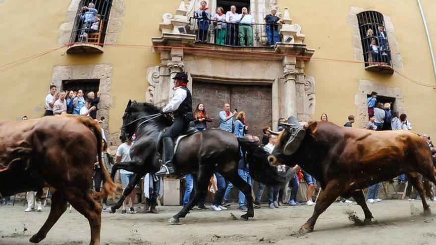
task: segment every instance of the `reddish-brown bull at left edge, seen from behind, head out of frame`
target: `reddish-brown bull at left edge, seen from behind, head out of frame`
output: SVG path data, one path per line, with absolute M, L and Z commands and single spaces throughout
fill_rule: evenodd
M 97 200 L 115 192 L 102 162 L 100 126 L 89 117 L 52 116 L 21 122 L 0 121 L 0 197 L 50 186 L 55 189 L 49 217 L 30 242 L 41 242 L 69 202 L 91 227 L 91 245 L 100 244 L 102 207 Z M 93 194 L 96 156 L 106 182 Z

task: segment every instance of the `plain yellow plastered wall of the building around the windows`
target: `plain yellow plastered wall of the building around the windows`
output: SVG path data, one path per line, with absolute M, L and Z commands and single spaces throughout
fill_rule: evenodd
M 159 23 L 165 12 L 174 13 L 179 0 L 125 0 L 117 44 L 151 45 L 160 36 Z M 0 65 L 38 52 L 54 49 L 60 35 L 59 26 L 66 21 L 70 0 L 4 0 L 0 3 Z M 404 66 L 401 73 L 426 84 L 436 84 L 430 52 L 415 0 L 279 0 L 283 11 L 290 8 L 294 23 L 302 26 L 308 47 L 316 49 L 314 57 L 354 60 L 352 32 L 348 25 L 350 6 L 372 9 L 389 15 Z M 436 48 L 436 2 L 423 0 Z M 103 54 L 69 55 L 60 49 L 43 57 L 3 71 L 0 68 L 1 119 L 30 118 L 43 113 L 53 68 L 57 65 L 110 63 L 113 67 L 110 109 L 110 132 L 116 133 L 129 98 L 144 101 L 147 88 L 146 68 L 159 64 L 159 54 L 151 49 L 105 47 Z M 329 119 L 343 124 L 349 114 L 356 115 L 354 96 L 358 80 L 366 79 L 387 87 L 400 87 L 405 109 L 414 130 L 436 137 L 433 115 L 436 92 L 418 86 L 397 74 L 379 75 L 364 70 L 363 64 L 311 61 L 306 74 L 315 76 L 316 114 L 327 113 Z

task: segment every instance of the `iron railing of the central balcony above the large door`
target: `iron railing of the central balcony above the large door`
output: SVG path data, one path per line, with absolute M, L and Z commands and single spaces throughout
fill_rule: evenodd
M 270 47 L 281 40 L 279 28 L 277 24 L 238 24 L 191 17 L 187 31 L 196 35 L 199 43 Z

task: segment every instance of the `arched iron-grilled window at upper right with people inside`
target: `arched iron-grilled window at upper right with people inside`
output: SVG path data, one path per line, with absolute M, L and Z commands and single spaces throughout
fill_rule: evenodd
M 377 11 L 357 14 L 365 67 L 392 66 L 383 15 Z

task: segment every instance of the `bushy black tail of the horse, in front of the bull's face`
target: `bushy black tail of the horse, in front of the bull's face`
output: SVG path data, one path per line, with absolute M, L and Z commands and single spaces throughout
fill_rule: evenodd
M 242 151 L 247 152 L 248 170 L 253 179 L 267 186 L 280 186 L 286 183 L 286 178 L 280 176 L 276 167 L 268 162 L 269 153 L 263 147 L 242 138 L 238 138 L 238 143 Z

